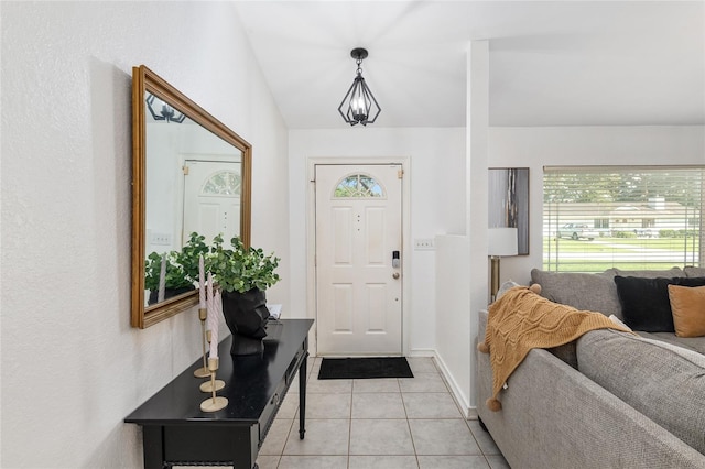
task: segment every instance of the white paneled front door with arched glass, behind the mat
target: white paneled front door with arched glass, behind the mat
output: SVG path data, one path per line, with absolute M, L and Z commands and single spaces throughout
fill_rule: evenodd
M 318 355 L 402 353 L 402 166 L 315 166 Z

